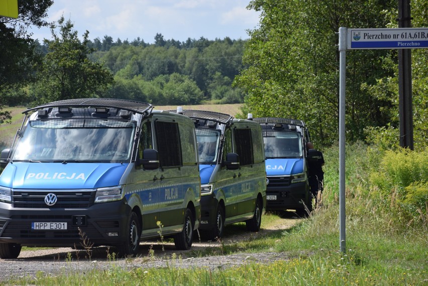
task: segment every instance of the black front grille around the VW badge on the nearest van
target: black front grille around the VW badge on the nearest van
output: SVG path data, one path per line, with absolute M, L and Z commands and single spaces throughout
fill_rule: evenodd
M 96 191 L 14 191 L 13 206 L 15 208 L 88 208 L 93 205 Z M 47 194 L 55 194 L 58 198 L 53 206 L 45 203 Z

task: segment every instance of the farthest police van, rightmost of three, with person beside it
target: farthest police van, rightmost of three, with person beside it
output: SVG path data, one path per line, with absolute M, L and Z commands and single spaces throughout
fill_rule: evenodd
M 262 126 L 266 156 L 268 210 L 312 211 L 306 142 L 309 132 L 301 120 L 253 118 Z

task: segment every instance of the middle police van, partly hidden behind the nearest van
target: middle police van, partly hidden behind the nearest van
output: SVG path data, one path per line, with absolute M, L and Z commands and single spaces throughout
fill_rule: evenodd
M 245 221 L 258 231 L 266 207 L 266 172 L 260 124 L 203 110 L 177 113 L 193 119 L 201 177 L 203 238 L 222 237 L 225 224 Z

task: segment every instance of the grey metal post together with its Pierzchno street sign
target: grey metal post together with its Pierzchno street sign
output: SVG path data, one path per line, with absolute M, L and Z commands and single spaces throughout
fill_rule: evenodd
M 345 215 L 345 93 L 346 50 L 428 48 L 428 28 L 339 28 L 339 220 L 340 250 L 346 252 Z

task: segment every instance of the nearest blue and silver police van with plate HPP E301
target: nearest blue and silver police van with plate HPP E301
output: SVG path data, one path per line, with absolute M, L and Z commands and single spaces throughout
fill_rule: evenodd
M 193 121 L 120 99 L 70 99 L 24 111 L 2 152 L 0 257 L 22 246 L 116 246 L 171 236 L 189 249 L 199 226 Z M 82 245 L 83 246 L 83 245 Z

